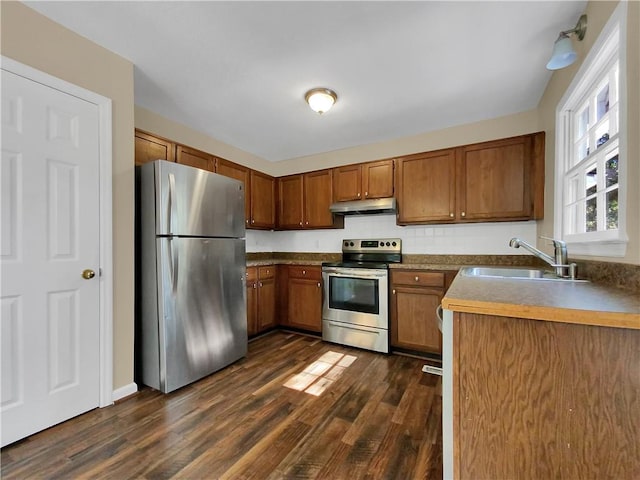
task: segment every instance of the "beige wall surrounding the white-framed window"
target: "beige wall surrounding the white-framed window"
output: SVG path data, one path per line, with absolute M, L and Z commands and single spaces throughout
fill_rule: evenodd
M 544 220 L 539 224 L 539 235 L 553 236 L 554 182 L 555 182 L 555 114 L 556 106 L 578 72 L 602 28 L 617 7 L 618 2 L 589 2 L 585 13 L 588 27 L 582 42 L 574 42 L 578 61 L 568 68 L 554 72 L 539 104 L 540 122 L 546 131 L 546 181 Z M 584 257 L 590 260 L 621 262 L 640 265 L 640 3 L 628 2 L 627 12 L 627 234 L 629 244 L 624 258 Z M 542 248 L 542 245 L 539 245 Z M 569 252 L 571 254 L 571 252 Z

